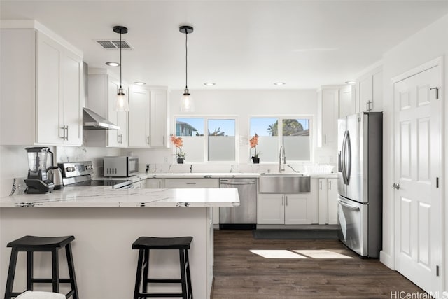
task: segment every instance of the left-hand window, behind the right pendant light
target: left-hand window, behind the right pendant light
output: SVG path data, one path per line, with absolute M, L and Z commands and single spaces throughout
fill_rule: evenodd
M 188 162 L 235 161 L 235 118 L 176 118 L 176 136 Z

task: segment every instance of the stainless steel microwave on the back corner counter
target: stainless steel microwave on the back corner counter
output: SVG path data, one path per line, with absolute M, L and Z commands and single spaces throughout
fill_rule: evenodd
M 139 172 L 139 158 L 116 156 L 103 158 L 104 176 L 133 176 Z

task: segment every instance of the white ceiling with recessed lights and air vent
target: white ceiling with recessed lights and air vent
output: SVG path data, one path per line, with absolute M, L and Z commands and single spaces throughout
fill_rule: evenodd
M 2 20 L 41 22 L 82 50 L 89 67 L 119 61 L 117 50 L 103 50 L 94 40 L 119 39 L 112 27 L 127 27 L 123 39 L 135 50 L 123 51 L 123 78 L 172 89 L 185 85 L 179 25 L 193 25 L 190 90 L 342 84 L 447 13 L 446 0 L 0 1 Z

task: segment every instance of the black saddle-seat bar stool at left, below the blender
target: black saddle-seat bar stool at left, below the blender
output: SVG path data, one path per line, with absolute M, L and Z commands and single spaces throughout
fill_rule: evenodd
M 38 283 L 52 284 L 53 293 L 59 293 L 59 284 L 70 284 L 71 291 L 65 296 L 78 299 L 78 287 L 76 286 L 75 269 L 73 267 L 73 256 L 71 254 L 71 241 L 75 237 L 35 237 L 25 236 L 8 243 L 11 247 L 11 257 L 9 262 L 8 279 L 6 281 L 5 299 L 17 297 L 20 293 L 13 292 L 15 266 L 17 265 L 18 253 L 27 252 L 27 290 L 33 291 L 33 285 Z M 58 251 L 65 247 L 67 263 L 69 267 L 70 278 L 59 278 L 59 256 Z M 33 274 L 33 255 L 34 252 L 49 251 L 52 259 L 52 278 L 34 278 Z

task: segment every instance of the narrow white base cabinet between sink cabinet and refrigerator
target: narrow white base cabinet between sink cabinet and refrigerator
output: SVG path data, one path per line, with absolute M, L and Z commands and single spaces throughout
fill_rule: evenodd
M 319 224 L 337 224 L 337 179 L 320 178 Z

